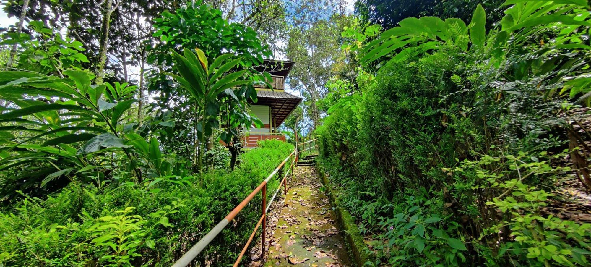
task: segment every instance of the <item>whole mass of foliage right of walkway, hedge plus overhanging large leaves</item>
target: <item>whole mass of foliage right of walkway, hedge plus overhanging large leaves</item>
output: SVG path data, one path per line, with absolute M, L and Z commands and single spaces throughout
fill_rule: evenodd
M 591 224 L 547 209 L 564 178 L 591 185 L 572 115 L 589 97 L 589 6 L 566 2 L 507 1 L 496 27 L 482 6 L 469 24 L 406 18 L 353 44 L 368 67 L 331 82 L 317 134 L 369 265 L 589 265 Z

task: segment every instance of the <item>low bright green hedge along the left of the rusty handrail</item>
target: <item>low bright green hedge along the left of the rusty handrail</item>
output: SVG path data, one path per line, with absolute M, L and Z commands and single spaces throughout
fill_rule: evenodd
M 205 174 L 203 186 L 199 177 L 160 177 L 118 187 L 72 183 L 45 200 L 25 196 L 0 214 L 0 266 L 170 266 L 292 150 L 285 142 L 261 142 L 241 156 L 235 171 Z M 273 179 L 268 190 L 278 183 Z M 200 253 L 198 264 L 235 261 L 260 203 L 257 194 Z

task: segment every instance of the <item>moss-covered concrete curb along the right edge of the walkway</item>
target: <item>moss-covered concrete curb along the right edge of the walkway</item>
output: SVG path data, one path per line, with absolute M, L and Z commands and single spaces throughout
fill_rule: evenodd
M 370 261 L 369 255 L 366 253 L 367 246 L 363 242 L 363 236 L 359 232 L 359 228 L 355 223 L 355 219 L 349 213 L 349 211 L 343 208 L 343 205 L 339 203 L 337 196 L 339 190 L 330 185 L 329 178 L 324 173 L 323 168 L 318 165 L 318 171 L 324 187 L 326 187 L 326 193 L 329 196 L 330 203 L 335 208 L 337 220 L 341 229 L 345 230 L 345 240 L 347 241 L 347 247 L 350 254 L 352 255 L 353 261 L 357 266 L 362 266 L 363 263 Z

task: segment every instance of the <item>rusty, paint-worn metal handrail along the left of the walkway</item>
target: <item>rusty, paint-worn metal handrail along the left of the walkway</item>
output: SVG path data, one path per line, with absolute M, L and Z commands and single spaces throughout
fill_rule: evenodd
M 200 252 L 202 252 L 202 250 L 209 245 L 210 242 L 212 242 L 213 238 L 216 237 L 217 235 L 219 235 L 220 232 L 222 232 L 222 230 L 224 229 L 224 227 L 226 227 L 230 221 L 232 219 L 234 219 L 234 217 L 236 217 L 236 215 L 246 206 L 246 204 L 248 204 L 249 201 L 252 200 L 252 198 L 254 196 L 256 196 L 256 193 L 258 193 L 259 191 L 261 191 L 262 189 L 262 215 L 261 215 L 261 219 L 259 219 L 259 223 L 256 225 L 255 230 L 253 231 L 253 233 L 251 234 L 251 237 L 249 238 L 248 242 L 246 243 L 246 246 L 242 249 L 242 253 L 238 256 L 238 259 L 236 260 L 236 263 L 234 264 L 234 266 L 238 266 L 238 263 L 240 262 L 240 260 L 242 259 L 242 256 L 244 255 L 244 252 L 246 251 L 246 248 L 248 248 L 248 245 L 250 245 L 252 238 L 254 237 L 256 230 L 258 230 L 258 227 L 260 226 L 261 222 L 262 222 L 262 249 L 261 249 L 261 253 L 264 255 L 265 253 L 265 230 L 267 228 L 267 220 L 265 219 L 266 213 L 267 213 L 267 209 L 265 207 L 265 202 L 267 201 L 267 183 L 269 180 L 271 180 L 271 178 L 277 174 L 277 172 L 281 169 L 281 167 L 283 167 L 285 165 L 285 162 L 287 162 L 288 159 L 291 158 L 291 156 L 293 156 L 296 153 L 297 149 L 294 148 L 294 151 L 291 152 L 290 155 L 287 156 L 287 158 L 285 158 L 281 164 L 279 164 L 279 166 L 277 166 L 277 168 L 275 168 L 275 170 L 273 172 L 271 172 L 271 174 L 269 174 L 269 176 L 261 182 L 261 184 L 258 185 L 258 187 L 255 188 L 255 190 L 253 190 L 248 197 L 244 198 L 244 200 L 242 200 L 242 202 L 240 204 L 238 204 L 238 206 L 236 206 L 232 211 L 230 211 L 230 213 L 228 213 L 228 215 L 222 219 L 219 223 L 216 224 L 215 227 L 213 227 L 212 230 L 210 230 L 201 240 L 199 240 L 199 242 L 197 242 L 195 245 L 193 245 L 193 247 L 191 247 L 186 253 L 184 253 L 183 256 L 181 256 L 180 259 L 178 259 L 178 261 L 176 261 L 173 265 L 173 267 L 185 267 L 187 265 L 189 265 L 191 263 L 191 261 L 193 261 L 193 259 L 195 257 L 197 257 L 197 255 L 199 255 Z M 291 174 L 293 175 L 293 167 L 294 164 L 296 164 L 297 162 L 297 156 L 293 159 L 293 161 L 291 161 L 291 165 L 290 165 L 290 169 L 291 169 Z M 281 183 L 283 183 L 284 188 L 285 188 L 285 194 L 287 194 L 287 180 L 285 179 L 285 177 L 287 177 L 287 172 L 286 175 L 284 176 L 283 180 L 281 181 Z M 281 188 L 281 186 L 280 186 Z M 277 192 L 275 192 L 275 194 L 277 194 Z M 275 196 L 273 196 L 273 198 L 275 198 Z M 272 203 L 272 200 L 271 200 Z M 270 204 L 269 204 L 270 206 Z

